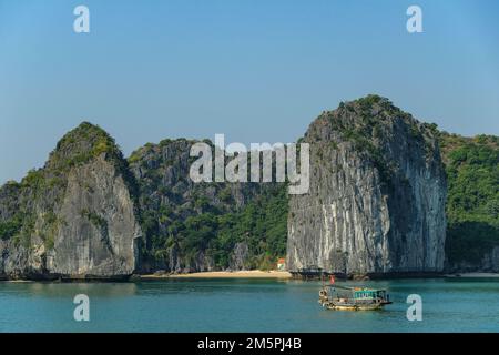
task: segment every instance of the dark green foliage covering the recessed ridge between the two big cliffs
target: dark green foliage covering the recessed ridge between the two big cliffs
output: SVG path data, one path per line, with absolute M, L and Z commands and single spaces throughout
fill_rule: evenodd
M 181 268 L 193 268 L 204 255 L 221 270 L 230 267 L 235 246 L 244 243 L 248 246 L 245 267 L 274 267 L 276 258 L 286 253 L 286 186 L 193 184 L 189 166 L 196 158 L 189 152 L 194 143 L 164 140 L 136 150 L 129 159 L 132 170 L 140 169 L 142 176 L 144 260 L 162 265 L 173 253 Z M 214 149 L 210 141 L 205 143 Z

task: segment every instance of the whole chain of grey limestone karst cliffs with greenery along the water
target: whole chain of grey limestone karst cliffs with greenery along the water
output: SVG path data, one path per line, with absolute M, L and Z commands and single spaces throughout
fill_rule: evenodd
M 288 195 L 286 183 L 193 183 L 195 141 L 124 158 L 83 122 L 42 169 L 0 189 L 0 278 L 274 270 L 279 258 L 298 276 L 499 272 L 497 136 L 441 132 L 368 95 L 297 141 L 310 146 L 310 189 Z

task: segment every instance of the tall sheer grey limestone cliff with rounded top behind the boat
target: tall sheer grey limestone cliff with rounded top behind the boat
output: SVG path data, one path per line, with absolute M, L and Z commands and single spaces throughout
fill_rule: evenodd
M 324 112 L 304 141 L 310 190 L 289 202 L 291 271 L 442 270 L 446 176 L 431 125 L 369 95 Z

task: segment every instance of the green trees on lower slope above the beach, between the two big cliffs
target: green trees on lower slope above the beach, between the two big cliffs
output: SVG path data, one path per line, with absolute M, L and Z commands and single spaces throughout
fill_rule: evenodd
M 224 270 L 235 245 L 243 242 L 249 248 L 246 267 L 273 267 L 277 257 L 286 254 L 288 200 L 285 184 L 266 189 L 238 212 L 216 209 L 205 196 L 195 202 L 200 214 L 185 220 L 171 206 L 161 206 L 157 213 L 144 211 L 147 254 L 165 257 L 175 245 L 184 260 L 192 263 L 203 252 L 213 257 L 216 268 Z M 166 233 L 161 225 L 167 225 Z

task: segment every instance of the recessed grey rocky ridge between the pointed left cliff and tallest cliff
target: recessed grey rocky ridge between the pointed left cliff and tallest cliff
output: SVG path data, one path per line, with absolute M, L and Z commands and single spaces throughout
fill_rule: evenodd
M 262 200 L 284 186 L 194 183 L 189 172 L 196 158 L 191 158 L 190 151 L 196 142 L 177 139 L 150 143 L 129 159 L 130 169 L 139 181 L 139 205 L 143 211 L 146 243 L 142 271 L 182 273 L 258 267 L 249 258 L 264 254 L 257 251 L 256 244 L 265 243 L 268 233 L 252 225 L 257 221 L 251 221 L 244 229 L 237 226 L 243 215 L 248 219 L 256 205 L 264 209 L 267 201 Z M 275 210 L 274 213 L 282 216 L 276 225 L 285 226 L 285 214 Z M 283 241 L 285 234 L 284 229 L 279 234 Z

